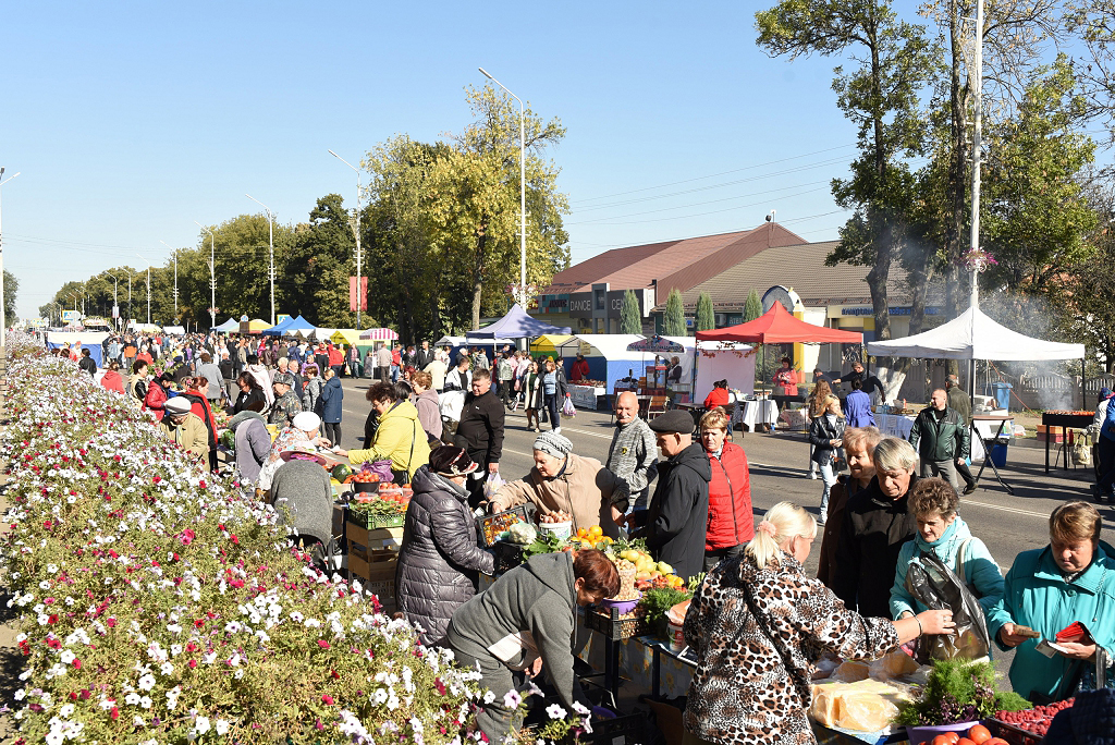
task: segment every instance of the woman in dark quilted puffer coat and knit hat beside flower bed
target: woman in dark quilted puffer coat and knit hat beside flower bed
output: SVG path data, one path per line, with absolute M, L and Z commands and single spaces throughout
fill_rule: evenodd
M 464 448 L 442 445 L 418 468 L 399 549 L 396 600 L 399 610 L 433 644 L 445 636 L 453 611 L 476 594 L 479 572 L 495 560 L 476 545 L 465 481 L 476 463 Z

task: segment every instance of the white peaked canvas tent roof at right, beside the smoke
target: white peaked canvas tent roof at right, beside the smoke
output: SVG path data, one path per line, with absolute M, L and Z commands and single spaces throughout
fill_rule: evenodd
M 1049 360 L 1085 356 L 1083 344 L 1044 341 L 1011 331 L 983 311 L 969 308 L 935 329 L 912 337 L 872 341 L 867 354 L 931 359 Z

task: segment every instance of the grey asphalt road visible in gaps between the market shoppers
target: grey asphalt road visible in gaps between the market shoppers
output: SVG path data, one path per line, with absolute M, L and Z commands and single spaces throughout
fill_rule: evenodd
M 358 446 L 369 407 L 365 400 L 366 380 L 342 380 L 345 387 L 345 420 L 341 442 L 346 448 Z M 530 471 L 533 461 L 531 445 L 534 433 L 526 430 L 522 410 L 508 412 L 501 473 L 505 478 L 518 478 Z M 542 425 L 543 429 L 547 425 Z M 573 442 L 574 452 L 604 461 L 612 437 L 608 412 L 579 412 L 573 419 L 563 422 L 562 434 Z M 804 434 L 734 433 L 737 444 L 747 453 L 752 480 L 752 504 L 756 522 L 769 507 L 791 500 L 816 513 L 821 504 L 821 481 L 806 477 L 808 445 Z M 978 470 L 972 468 L 975 474 Z M 996 481 L 990 466 L 980 478 L 975 494 L 961 497 L 959 513 L 991 551 L 1002 572 L 1010 568 L 1015 557 L 1049 542 L 1049 513 L 1058 504 L 1076 499 L 1090 501 L 1090 468 L 1053 470 L 1045 474 L 1045 453 L 1038 448 L 1012 446 L 1007 467 L 1001 470 L 1005 481 L 1014 487 L 1008 494 Z M 1104 516 L 1104 540 L 1115 543 L 1115 506 L 1099 507 Z M 820 543 L 817 544 L 820 548 Z M 806 570 L 815 572 L 816 551 L 809 557 Z M 996 668 L 1004 674 L 1002 685 L 1008 685 L 1006 671 L 1011 655 L 995 652 Z

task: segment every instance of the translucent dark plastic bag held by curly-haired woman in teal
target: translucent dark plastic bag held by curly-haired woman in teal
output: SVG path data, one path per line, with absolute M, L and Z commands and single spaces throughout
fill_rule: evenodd
M 951 610 L 956 631 L 928 633 L 918 640 L 918 661 L 980 659 L 991 645 L 983 609 L 971 590 L 935 555 L 915 557 L 906 569 L 906 592 L 931 610 Z

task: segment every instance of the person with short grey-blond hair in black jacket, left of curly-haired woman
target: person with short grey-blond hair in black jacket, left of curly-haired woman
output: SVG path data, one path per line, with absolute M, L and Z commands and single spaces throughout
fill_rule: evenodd
M 917 521 L 906 499 L 918 482 L 910 443 L 883 437 L 872 454 L 875 477 L 849 497 L 832 570 L 832 591 L 861 616 L 890 618 L 891 587 L 902 544 L 914 538 Z

